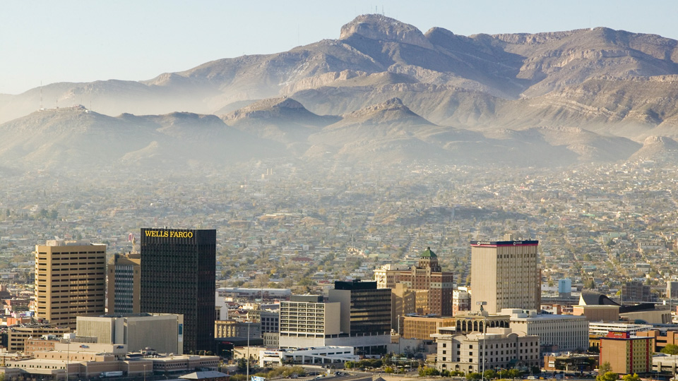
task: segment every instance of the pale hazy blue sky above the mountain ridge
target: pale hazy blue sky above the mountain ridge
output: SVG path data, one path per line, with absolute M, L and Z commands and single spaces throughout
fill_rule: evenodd
M 678 39 L 678 1 L 0 0 L 0 94 L 54 82 L 145 80 L 214 59 L 339 37 L 362 13 L 426 32 L 552 32 L 605 26 Z

